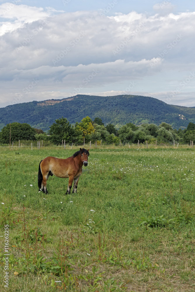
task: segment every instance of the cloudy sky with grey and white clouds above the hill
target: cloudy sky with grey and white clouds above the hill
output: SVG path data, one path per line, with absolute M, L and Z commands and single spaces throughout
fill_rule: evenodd
M 80 94 L 195 106 L 186 0 L 0 0 L 0 107 Z

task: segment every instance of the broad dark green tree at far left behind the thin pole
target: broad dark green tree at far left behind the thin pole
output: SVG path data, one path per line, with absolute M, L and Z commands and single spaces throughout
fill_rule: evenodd
M 11 142 L 18 140 L 34 140 L 36 134 L 34 128 L 30 125 L 23 123 L 11 123 Z M 0 133 L 1 143 L 9 143 L 10 140 L 10 125 L 7 124 Z

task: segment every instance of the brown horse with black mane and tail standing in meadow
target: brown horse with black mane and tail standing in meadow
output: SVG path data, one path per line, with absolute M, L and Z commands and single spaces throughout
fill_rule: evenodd
M 58 178 L 69 178 L 68 190 L 66 194 L 70 194 L 70 189 L 74 180 L 73 193 L 77 192 L 77 184 L 82 173 L 82 166 L 88 164 L 89 149 L 81 149 L 73 156 L 66 159 L 56 157 L 46 157 L 39 163 L 38 187 L 39 190 L 48 194 L 46 184 L 49 176 L 55 175 Z

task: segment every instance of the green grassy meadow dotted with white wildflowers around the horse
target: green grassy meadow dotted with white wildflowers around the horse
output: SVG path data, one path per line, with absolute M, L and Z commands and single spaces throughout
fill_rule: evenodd
M 1 148 L 0 291 L 194 291 L 194 150 L 91 149 L 77 194 L 38 192 L 41 159 L 77 150 Z

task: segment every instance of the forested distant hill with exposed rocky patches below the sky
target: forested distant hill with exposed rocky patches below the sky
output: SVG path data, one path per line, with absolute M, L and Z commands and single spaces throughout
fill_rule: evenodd
M 49 130 L 55 119 L 65 117 L 71 124 L 89 116 L 100 117 L 104 123 L 120 127 L 126 123 L 143 124 L 162 121 L 173 128 L 185 128 L 195 123 L 195 107 L 168 105 L 156 98 L 139 95 L 93 96 L 76 95 L 59 100 L 32 101 L 0 108 L 0 126 L 8 123 L 27 123 Z

